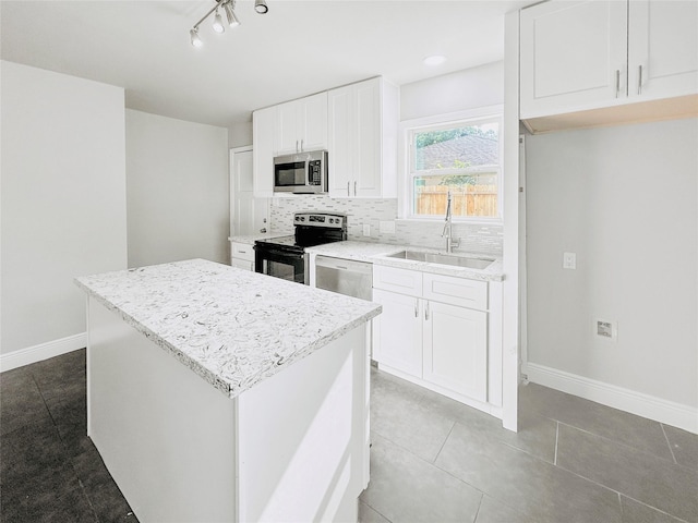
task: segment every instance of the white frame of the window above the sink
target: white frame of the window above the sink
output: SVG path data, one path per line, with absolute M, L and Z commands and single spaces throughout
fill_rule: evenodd
M 432 117 L 417 118 L 413 120 L 404 120 L 400 122 L 399 132 L 399 161 L 398 161 L 398 219 L 408 221 L 434 222 L 443 220 L 443 216 L 435 215 L 414 215 L 412 214 L 413 203 L 413 179 L 417 173 L 411 171 L 412 167 L 412 142 L 411 136 L 414 132 L 436 131 L 438 129 L 449 129 L 455 126 L 477 125 L 478 123 L 497 122 L 500 125 L 498 139 L 498 157 L 497 166 L 497 216 L 454 216 L 453 221 L 457 223 L 503 223 L 503 184 L 504 184 L 504 106 L 486 106 L 467 111 L 457 111 L 443 113 Z M 412 156 L 410 156 L 412 155 Z M 472 168 L 471 172 L 478 170 L 492 172 L 490 167 Z M 447 169 L 429 170 L 424 173 L 449 174 Z M 462 172 L 462 171 L 460 171 Z M 429 175 L 429 174 L 426 174 Z

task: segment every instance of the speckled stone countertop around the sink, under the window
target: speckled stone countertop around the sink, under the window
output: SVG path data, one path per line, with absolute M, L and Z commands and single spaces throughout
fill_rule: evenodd
M 468 256 L 472 258 L 492 258 L 494 262 L 484 269 L 470 269 L 467 267 L 454 267 L 450 265 L 432 264 L 426 262 L 417 262 L 413 259 L 389 258 L 390 254 L 405 250 L 420 251 L 425 253 L 442 253 L 434 248 L 422 248 L 407 245 L 392 245 L 387 243 L 369 243 L 369 242 L 336 242 L 309 247 L 306 253 L 321 254 L 333 258 L 356 259 L 358 262 L 370 262 L 375 265 L 386 265 L 388 267 L 397 267 L 400 269 L 420 270 L 422 272 L 432 272 L 436 275 L 456 276 L 459 278 L 469 278 L 472 280 L 483 281 L 502 281 L 504 280 L 504 269 L 502 266 L 502 257 L 486 256 L 482 254 L 454 253 L 456 256 Z

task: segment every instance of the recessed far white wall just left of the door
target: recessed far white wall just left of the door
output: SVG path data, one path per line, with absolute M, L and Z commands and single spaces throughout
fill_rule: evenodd
M 228 131 L 125 112 L 129 267 L 228 263 Z

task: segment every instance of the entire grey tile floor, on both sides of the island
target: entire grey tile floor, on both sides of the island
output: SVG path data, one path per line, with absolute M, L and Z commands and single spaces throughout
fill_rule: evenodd
M 372 372 L 371 522 L 698 522 L 698 436 L 537 385 L 520 431 Z M 85 351 L 0 375 L 0 521 L 135 522 L 86 437 Z

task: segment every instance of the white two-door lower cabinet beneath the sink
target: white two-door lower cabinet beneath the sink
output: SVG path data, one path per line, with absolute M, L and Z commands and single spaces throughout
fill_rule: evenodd
M 376 265 L 373 281 L 373 301 L 383 305 L 374 320 L 378 366 L 452 398 L 485 403 L 488 283 Z

